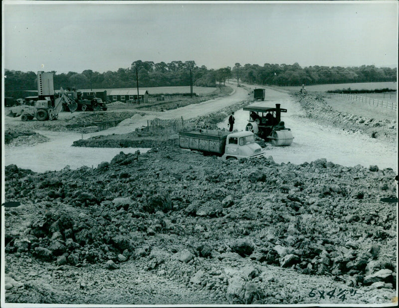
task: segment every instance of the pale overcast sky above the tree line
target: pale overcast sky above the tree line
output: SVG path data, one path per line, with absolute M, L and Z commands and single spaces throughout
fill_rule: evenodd
M 398 1 L 2 1 L 3 68 L 398 66 Z

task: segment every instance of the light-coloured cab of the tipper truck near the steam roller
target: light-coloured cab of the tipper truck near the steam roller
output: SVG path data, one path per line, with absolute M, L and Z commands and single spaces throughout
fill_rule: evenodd
M 243 157 L 264 157 L 262 148 L 255 143 L 255 135 L 247 131 L 228 135 L 222 158 L 239 159 Z

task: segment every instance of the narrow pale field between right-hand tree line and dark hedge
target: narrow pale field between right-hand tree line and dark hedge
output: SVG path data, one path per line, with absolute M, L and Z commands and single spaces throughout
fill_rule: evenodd
M 306 85 L 305 85 L 306 86 Z M 280 87 L 285 90 L 299 91 L 301 87 Z M 337 83 L 337 84 L 326 84 L 326 85 L 314 85 L 306 86 L 308 91 L 329 91 L 329 90 L 343 90 L 343 89 L 354 89 L 354 90 L 375 90 L 375 89 L 394 89 L 398 90 L 396 82 L 361 82 L 361 83 Z M 363 94 L 362 94 L 363 95 Z

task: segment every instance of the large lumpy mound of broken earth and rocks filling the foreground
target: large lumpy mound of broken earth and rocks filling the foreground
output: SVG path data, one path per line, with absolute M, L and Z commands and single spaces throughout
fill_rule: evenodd
M 283 284 L 303 274 L 358 292 L 384 288 L 388 299 L 395 296 L 397 217 L 395 204 L 380 198 L 396 194 L 395 175 L 325 159 L 228 161 L 176 147 L 120 153 L 93 169 L 34 173 L 9 165 L 5 198 L 21 206 L 5 211 L 6 258 L 61 272 L 122 271 L 130 262 L 142 277 L 210 294 L 208 304 L 309 303 Z M 10 285 L 6 297 L 18 302 Z

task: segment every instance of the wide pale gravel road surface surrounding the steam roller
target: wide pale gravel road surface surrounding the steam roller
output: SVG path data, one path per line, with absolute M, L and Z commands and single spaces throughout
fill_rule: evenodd
M 294 136 L 290 147 L 267 149 L 267 154 L 273 156 L 276 162 L 289 161 L 299 164 L 326 158 L 344 166 L 378 165 L 380 168 L 391 167 L 398 170 L 398 148 L 395 144 L 380 142 L 359 133 L 348 133 L 341 129 L 318 125 L 305 117 L 299 103 L 287 93 L 267 89 L 265 101 L 254 102 L 251 105 L 275 107 L 276 103 L 287 109 L 287 113 L 281 114 L 281 120 L 291 129 Z M 234 128 L 239 131 L 245 130 L 249 112 L 237 111 L 234 118 Z M 227 118 L 219 124 L 219 128 L 227 128 Z

